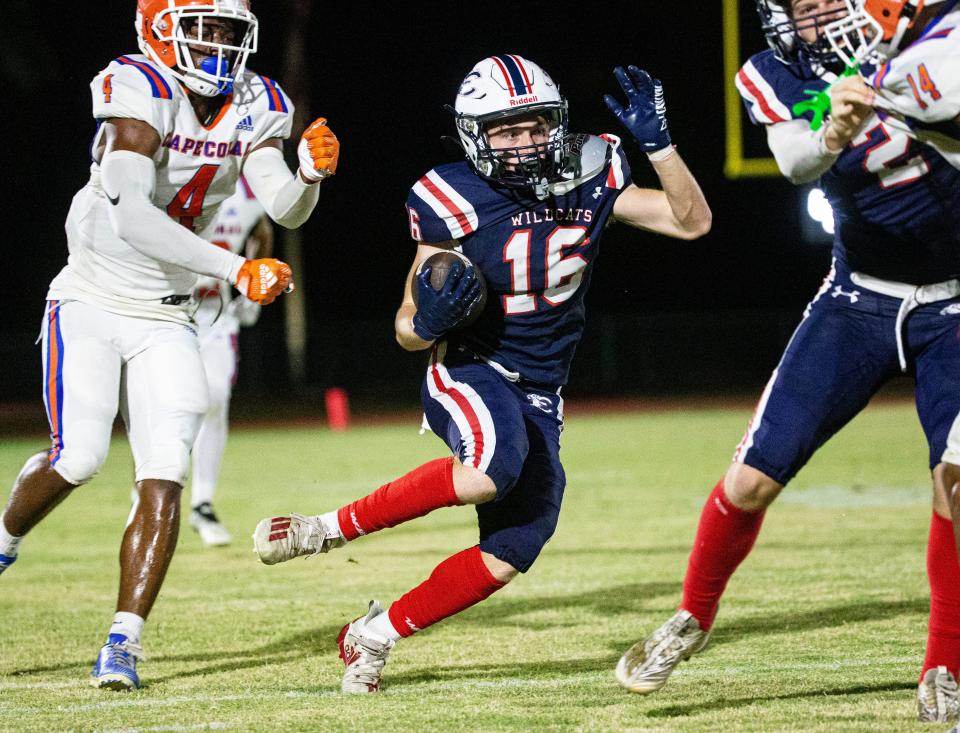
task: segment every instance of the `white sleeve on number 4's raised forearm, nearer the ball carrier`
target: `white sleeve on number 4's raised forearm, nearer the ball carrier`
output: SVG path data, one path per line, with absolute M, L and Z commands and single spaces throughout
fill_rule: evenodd
M 243 176 L 267 216 L 287 229 L 303 224 L 320 197 L 320 185 L 304 183 L 300 176 L 291 173 L 283 153 L 276 148 L 250 153 L 243 164 Z

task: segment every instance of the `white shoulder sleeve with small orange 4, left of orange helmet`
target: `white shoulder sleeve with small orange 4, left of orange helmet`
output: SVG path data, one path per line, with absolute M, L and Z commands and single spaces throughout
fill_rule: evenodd
M 121 56 L 90 82 L 93 116 L 142 120 L 160 139 L 173 130 L 177 104 L 170 82 L 143 56 Z

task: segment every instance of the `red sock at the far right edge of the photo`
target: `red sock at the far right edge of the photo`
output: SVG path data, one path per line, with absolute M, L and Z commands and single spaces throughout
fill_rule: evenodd
M 960 562 L 953 539 L 953 522 L 934 513 L 927 541 L 927 578 L 930 580 L 930 625 L 924 673 L 943 665 L 954 677 L 960 671 Z

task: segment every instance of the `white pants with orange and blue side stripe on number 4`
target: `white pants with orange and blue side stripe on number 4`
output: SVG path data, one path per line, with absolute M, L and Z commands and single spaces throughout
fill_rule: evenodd
M 182 485 L 208 403 L 194 330 L 75 300 L 49 301 L 42 343 L 54 469 L 72 484 L 93 478 L 119 410 L 136 480 Z

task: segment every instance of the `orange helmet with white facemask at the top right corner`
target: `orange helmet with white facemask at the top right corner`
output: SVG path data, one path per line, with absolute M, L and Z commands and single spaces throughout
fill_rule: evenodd
M 836 54 L 848 66 L 880 65 L 900 52 L 904 34 L 925 7 L 944 0 L 844 0 L 847 17 L 826 27 Z

